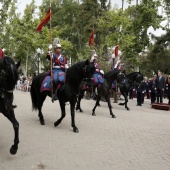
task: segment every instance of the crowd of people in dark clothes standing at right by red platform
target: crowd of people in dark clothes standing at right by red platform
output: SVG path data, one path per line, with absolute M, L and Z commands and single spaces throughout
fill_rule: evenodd
M 133 83 L 129 91 L 129 99 L 137 98 L 137 106 L 142 106 L 145 97 L 152 103 L 163 103 L 168 98 L 170 104 L 170 76 L 163 76 L 161 71 L 140 84 Z

